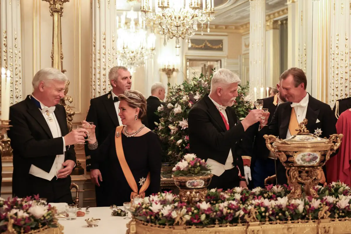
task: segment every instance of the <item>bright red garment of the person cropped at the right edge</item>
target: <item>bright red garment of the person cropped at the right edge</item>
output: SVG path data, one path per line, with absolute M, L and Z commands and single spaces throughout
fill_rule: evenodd
M 336 156 L 330 158 L 326 163 L 327 181 L 329 183 L 340 180 L 351 185 L 351 109 L 344 111 L 336 123 L 338 134 L 344 137 Z

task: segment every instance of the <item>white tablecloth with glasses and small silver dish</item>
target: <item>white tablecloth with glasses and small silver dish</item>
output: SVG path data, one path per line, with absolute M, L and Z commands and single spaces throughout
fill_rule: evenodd
M 119 207 L 124 209 L 123 207 Z M 82 208 L 85 212 L 85 208 Z M 77 217 L 76 220 L 66 220 L 59 218 L 59 223 L 64 226 L 64 234 L 125 234 L 127 231 L 127 223 L 130 219 L 123 219 L 124 217 L 111 216 L 112 210 L 110 207 L 91 207 L 89 214 L 83 217 Z M 131 216 L 131 215 L 130 215 Z M 88 227 L 85 219 L 94 218 L 101 219 L 98 227 Z

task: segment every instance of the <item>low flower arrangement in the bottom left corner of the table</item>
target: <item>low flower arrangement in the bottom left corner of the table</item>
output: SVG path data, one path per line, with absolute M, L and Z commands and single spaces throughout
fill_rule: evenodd
M 56 209 L 46 202 L 40 202 L 39 196 L 26 198 L 13 198 L 4 200 L 0 198 L 0 233 L 7 230 L 9 222 L 17 233 L 28 233 L 40 227 L 57 227 L 54 218 Z

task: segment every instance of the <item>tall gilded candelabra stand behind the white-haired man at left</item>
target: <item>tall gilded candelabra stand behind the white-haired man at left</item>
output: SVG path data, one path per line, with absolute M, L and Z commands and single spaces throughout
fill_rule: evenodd
M 49 3 L 50 15 L 52 16 L 52 49 L 51 49 L 51 62 L 52 67 L 56 68 L 62 73 L 65 73 L 66 70 L 63 69 L 63 60 L 64 54 L 62 52 L 62 33 L 61 33 L 61 16 L 63 14 L 63 5 L 69 0 L 42 0 Z M 71 96 L 67 95 L 69 81 L 66 83 L 65 87 L 65 97 L 61 98 L 60 104 L 65 107 L 66 116 L 67 116 L 67 125 L 68 130 L 72 130 L 72 121 L 74 116 L 74 111 L 72 108 L 66 104 L 66 101 L 69 103 L 73 102 Z

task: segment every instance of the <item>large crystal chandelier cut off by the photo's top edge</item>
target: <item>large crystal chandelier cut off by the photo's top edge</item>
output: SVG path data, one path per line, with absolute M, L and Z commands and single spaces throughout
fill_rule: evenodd
M 206 22 L 207 32 L 210 32 L 210 21 L 214 19 L 213 0 L 155 0 L 155 12 L 152 3 L 153 0 L 141 0 L 143 18 L 158 25 L 159 33 L 165 36 L 164 45 L 166 38 L 176 37 L 177 52 L 180 48 L 179 38 L 186 39 L 188 47 L 191 46 L 190 37 L 198 29 L 198 21 L 201 23 L 201 34 Z

